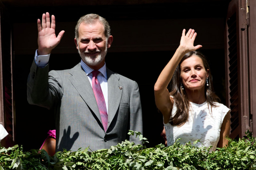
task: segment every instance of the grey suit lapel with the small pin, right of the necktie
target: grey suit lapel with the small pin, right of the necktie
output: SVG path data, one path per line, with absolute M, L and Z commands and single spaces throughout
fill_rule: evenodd
M 120 77 L 117 76 L 116 73 L 109 70 L 108 68 L 107 68 L 107 76 L 108 76 L 108 127 L 109 127 L 119 107 L 120 100 L 122 97 L 122 92 L 123 92 L 123 88 L 119 88 L 119 87 L 123 85 L 119 81 Z

